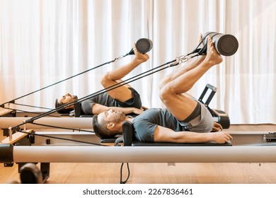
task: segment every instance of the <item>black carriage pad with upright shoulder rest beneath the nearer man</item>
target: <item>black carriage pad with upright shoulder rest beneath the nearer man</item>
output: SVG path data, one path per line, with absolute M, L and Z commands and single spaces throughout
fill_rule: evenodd
M 232 144 L 224 143 L 218 144 L 214 141 L 208 141 L 205 143 L 173 143 L 173 142 L 146 142 L 137 141 L 134 136 L 134 129 L 132 122 L 125 121 L 122 124 L 122 134 L 124 146 L 232 146 Z

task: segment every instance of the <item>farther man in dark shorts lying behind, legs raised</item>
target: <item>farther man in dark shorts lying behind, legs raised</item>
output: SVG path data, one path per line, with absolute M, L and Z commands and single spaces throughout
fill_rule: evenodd
M 135 57 L 129 64 L 121 66 L 113 71 L 109 71 L 101 79 L 101 83 L 104 88 L 109 88 L 119 82 L 122 82 L 122 78 L 135 69 L 139 64 L 146 62 L 149 59 L 148 54 L 140 53 L 134 44 L 133 46 Z M 73 103 L 78 100 L 76 95 L 67 93 L 61 98 L 56 99 L 55 107 L 61 105 Z M 110 110 L 124 112 L 125 114 L 139 115 L 145 107 L 142 107 L 142 102 L 139 93 L 134 90 L 129 84 L 125 84 L 116 88 L 116 91 L 108 91 L 107 93 L 101 93 L 95 97 L 89 98 L 81 102 L 81 110 L 85 115 L 98 115 L 100 112 Z M 64 107 L 59 113 L 69 113 L 74 110 L 74 105 Z

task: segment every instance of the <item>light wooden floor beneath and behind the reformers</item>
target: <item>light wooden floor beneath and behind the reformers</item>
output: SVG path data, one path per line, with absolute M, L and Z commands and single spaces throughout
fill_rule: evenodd
M 226 131 L 276 132 L 276 125 L 232 125 Z M 3 136 L 0 136 L 3 139 Z M 39 165 L 39 164 L 38 164 Z M 120 163 L 51 163 L 48 184 L 117 184 Z M 124 167 L 125 180 L 127 168 Z M 276 163 L 130 163 L 129 184 L 276 184 Z M 18 165 L 0 165 L 0 183 L 20 181 Z

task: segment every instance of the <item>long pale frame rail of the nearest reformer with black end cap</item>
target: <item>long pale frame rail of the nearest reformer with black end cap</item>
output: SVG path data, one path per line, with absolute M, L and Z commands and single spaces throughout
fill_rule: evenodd
M 275 163 L 275 146 L 13 146 L 1 163 Z M 5 155 L 4 155 L 5 153 Z

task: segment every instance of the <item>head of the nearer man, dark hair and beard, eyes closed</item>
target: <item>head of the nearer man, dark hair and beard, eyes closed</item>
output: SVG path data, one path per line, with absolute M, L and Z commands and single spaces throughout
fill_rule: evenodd
M 93 116 L 93 131 L 100 139 L 114 138 L 122 134 L 122 122 L 125 121 L 125 113 L 115 110 L 101 112 Z

